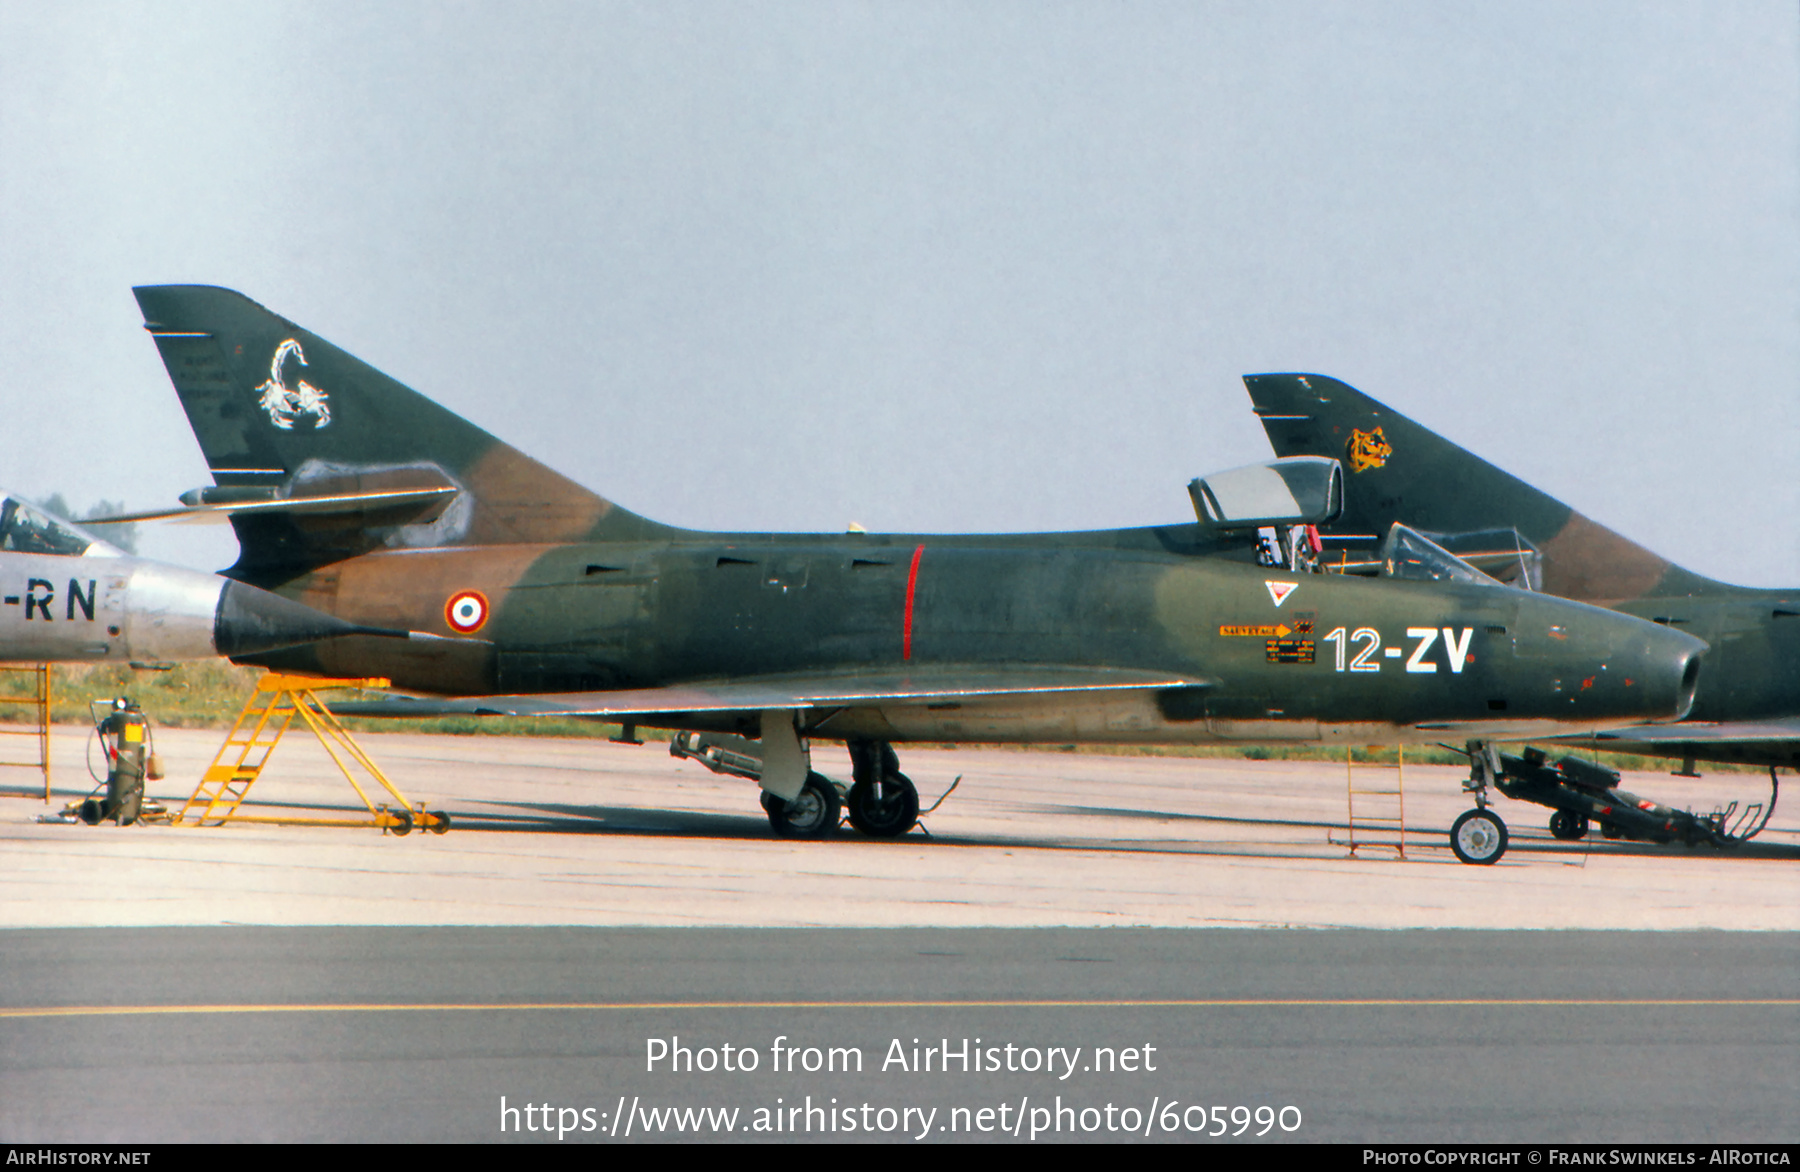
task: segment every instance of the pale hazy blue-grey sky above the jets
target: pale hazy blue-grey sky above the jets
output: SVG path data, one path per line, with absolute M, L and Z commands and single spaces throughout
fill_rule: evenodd
M 0 0 L 0 482 L 207 482 L 182 281 L 682 526 L 1190 518 L 1298 369 L 1793 585 L 1796 180 L 1793 2 Z

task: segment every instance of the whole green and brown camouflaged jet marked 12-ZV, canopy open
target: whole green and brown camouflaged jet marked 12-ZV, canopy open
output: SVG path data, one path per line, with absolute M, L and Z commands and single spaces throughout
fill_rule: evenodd
M 905 834 L 918 792 L 895 742 L 1591 731 L 1681 715 L 1697 677 L 1699 641 L 1503 587 L 1406 529 L 1386 578 L 1310 572 L 1298 535 L 1339 508 L 1330 459 L 1195 481 L 1193 522 L 1143 529 L 698 533 L 594 495 L 239 293 L 137 299 L 214 479 L 178 511 L 230 518 L 232 578 L 353 623 L 481 639 L 239 661 L 450 697 L 356 711 L 677 729 L 677 753 L 758 780 L 778 834 L 830 834 L 844 801 L 859 830 Z M 814 772 L 823 740 L 846 742 L 851 785 Z M 1505 846 L 1498 819 L 1465 837 Z

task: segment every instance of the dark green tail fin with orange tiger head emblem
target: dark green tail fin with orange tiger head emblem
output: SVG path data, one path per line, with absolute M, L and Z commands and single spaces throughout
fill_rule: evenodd
M 1339 535 L 1373 544 L 1402 520 L 1490 574 L 1580 601 L 1708 585 L 1348 383 L 1246 374 L 1244 385 L 1276 455 L 1343 461 Z

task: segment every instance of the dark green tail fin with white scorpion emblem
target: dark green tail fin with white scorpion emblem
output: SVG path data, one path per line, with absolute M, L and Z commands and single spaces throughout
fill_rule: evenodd
M 369 500 L 232 515 L 236 578 L 279 581 L 382 545 L 670 533 L 241 293 L 133 292 L 218 484 L 209 499 Z

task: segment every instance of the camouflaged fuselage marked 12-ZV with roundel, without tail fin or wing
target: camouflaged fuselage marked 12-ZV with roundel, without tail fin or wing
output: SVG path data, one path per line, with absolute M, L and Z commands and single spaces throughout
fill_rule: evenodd
M 257 663 L 448 695 L 958 664 L 1195 681 L 1080 700 L 884 704 L 832 727 L 891 740 L 1393 742 L 1598 729 L 1681 711 L 1699 650 L 1676 632 L 1523 591 L 1289 574 L 1073 535 L 407 549 L 328 565 L 281 591 L 353 623 L 466 641 L 347 637 Z

